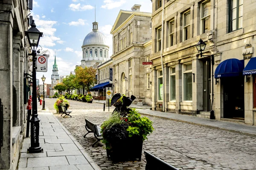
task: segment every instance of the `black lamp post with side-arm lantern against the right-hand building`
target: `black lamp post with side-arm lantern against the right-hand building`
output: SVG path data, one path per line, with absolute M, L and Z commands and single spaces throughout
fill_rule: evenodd
M 199 40 L 199 42 L 195 45 L 198 52 L 200 52 L 200 56 L 201 57 L 211 57 L 211 63 L 212 63 L 212 104 L 213 104 L 213 65 L 214 65 L 214 55 L 203 55 L 203 51 L 206 47 L 206 43 L 203 41 L 203 40 Z M 212 109 L 212 106 L 211 106 L 211 112 L 210 112 L 210 119 L 215 119 L 215 115 L 214 115 L 214 111 Z

